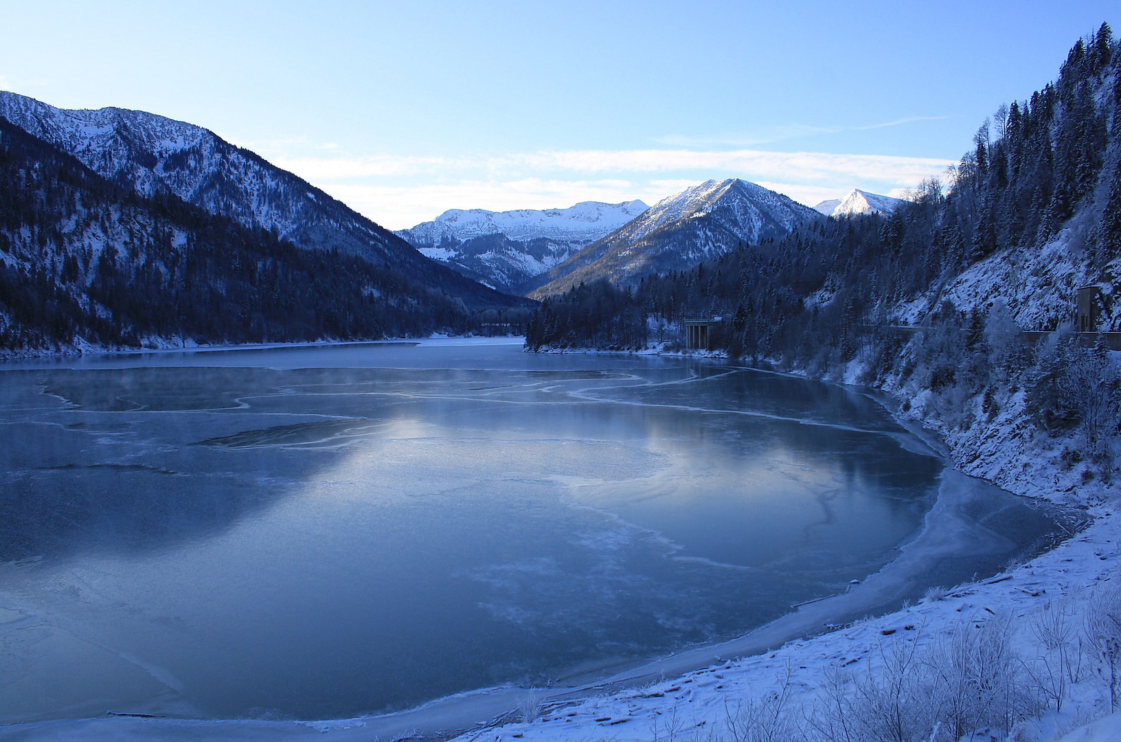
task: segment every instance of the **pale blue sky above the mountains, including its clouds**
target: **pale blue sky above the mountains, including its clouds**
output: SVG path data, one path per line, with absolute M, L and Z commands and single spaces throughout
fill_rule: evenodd
M 204 126 L 391 229 L 743 177 L 899 193 L 1118 3 L 2 0 L 0 89 Z

